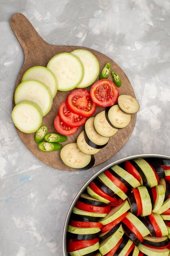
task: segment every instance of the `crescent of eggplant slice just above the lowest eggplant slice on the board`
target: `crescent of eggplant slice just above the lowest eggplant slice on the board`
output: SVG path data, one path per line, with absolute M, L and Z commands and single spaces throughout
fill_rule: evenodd
M 89 146 L 86 143 L 85 137 L 84 137 L 84 131 L 82 131 L 78 135 L 77 146 L 81 150 L 81 152 L 83 152 L 84 154 L 87 154 L 87 155 L 94 155 L 100 151 L 100 148 L 92 148 L 91 146 Z

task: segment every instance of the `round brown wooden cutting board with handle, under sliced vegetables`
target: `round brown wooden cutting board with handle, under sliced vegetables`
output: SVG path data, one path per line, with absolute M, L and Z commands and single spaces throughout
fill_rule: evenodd
M 22 14 L 22 13 L 15 13 L 10 20 L 11 27 L 13 29 L 13 32 L 15 36 L 17 37 L 17 40 L 19 41 L 20 45 L 22 46 L 22 49 L 24 51 L 25 59 L 24 64 L 22 66 L 22 69 L 20 70 L 20 74 L 17 78 L 14 93 L 13 93 L 13 108 L 15 106 L 14 102 L 14 94 L 17 86 L 21 83 L 21 79 L 23 74 L 28 70 L 30 67 L 34 66 L 47 66 L 48 61 L 50 58 L 52 58 L 54 55 L 59 54 L 61 52 L 71 52 L 75 49 L 86 49 L 90 52 L 92 52 L 96 58 L 98 59 L 99 65 L 100 65 L 100 72 L 102 68 L 105 66 L 105 63 L 110 62 L 111 63 L 111 70 L 116 71 L 121 79 L 122 79 L 122 86 L 120 87 L 120 94 L 130 94 L 133 97 L 135 97 L 132 85 L 127 78 L 126 74 L 123 72 L 123 70 L 109 57 L 105 56 L 104 54 L 97 52 L 93 49 L 80 47 L 80 46 L 56 46 L 56 45 L 50 45 L 46 43 L 37 33 L 37 31 L 34 29 L 34 27 L 31 25 L 31 23 L 28 21 L 28 19 Z M 67 35 L 66 35 L 67 36 Z M 100 74 L 100 73 L 99 73 Z M 109 79 L 112 80 L 111 75 L 109 76 Z M 97 79 L 98 80 L 98 79 Z M 91 86 L 87 87 L 87 90 L 90 90 Z M 74 89 L 75 90 L 75 89 Z M 52 109 L 50 112 L 43 117 L 43 123 L 42 125 L 46 125 L 48 127 L 48 133 L 50 132 L 56 132 L 54 128 L 54 119 L 58 113 L 59 105 L 63 101 L 65 101 L 67 95 L 70 93 L 68 92 L 61 92 L 58 91 L 56 97 L 53 99 Z M 104 110 L 104 108 L 98 107 L 96 109 L 95 115 L 98 112 L 101 112 Z M 94 115 L 94 116 L 95 116 Z M 105 148 L 102 148 L 99 153 L 95 155 L 95 166 L 98 166 L 99 164 L 104 163 L 113 155 L 115 155 L 127 142 L 129 137 L 131 136 L 131 133 L 133 131 L 133 128 L 135 126 L 136 121 L 136 114 L 131 115 L 131 122 L 130 124 L 123 129 L 120 129 L 116 135 L 112 136 L 109 139 L 109 143 Z M 16 128 L 17 129 L 17 128 Z M 68 136 L 68 141 L 63 143 L 63 145 L 76 142 L 76 139 L 80 132 L 84 129 L 84 126 L 81 126 L 78 129 L 78 132 L 76 132 L 74 135 Z M 63 170 L 63 171 L 77 171 L 74 168 L 70 168 L 63 164 L 61 158 L 60 158 L 60 151 L 54 151 L 54 152 L 42 152 L 38 149 L 37 144 L 34 142 L 34 134 L 26 134 L 24 132 L 21 132 L 17 129 L 17 133 L 24 142 L 25 146 L 42 162 L 47 164 L 48 166 L 51 166 L 53 168 Z

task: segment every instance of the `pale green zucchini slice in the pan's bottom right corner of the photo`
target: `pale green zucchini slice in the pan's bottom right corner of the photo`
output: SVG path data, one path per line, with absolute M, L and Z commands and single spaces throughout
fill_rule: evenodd
M 155 248 L 150 248 L 146 245 L 139 244 L 138 249 L 143 252 L 144 254 L 148 256 L 168 256 L 170 250 L 168 248 L 166 249 L 155 249 Z

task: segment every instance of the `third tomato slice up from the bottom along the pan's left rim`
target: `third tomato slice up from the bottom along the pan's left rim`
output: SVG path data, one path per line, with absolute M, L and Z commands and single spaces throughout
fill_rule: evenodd
M 110 206 L 96 206 L 92 204 L 86 204 L 80 201 L 76 202 L 76 207 L 83 211 L 89 211 L 94 213 L 109 213 L 111 211 Z

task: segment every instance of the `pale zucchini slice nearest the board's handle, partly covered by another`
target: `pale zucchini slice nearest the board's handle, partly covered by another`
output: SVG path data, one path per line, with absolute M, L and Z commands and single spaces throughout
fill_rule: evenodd
M 22 82 L 26 80 L 37 80 L 48 86 L 54 98 L 57 93 L 56 76 L 47 67 L 35 66 L 28 69 L 22 76 Z

